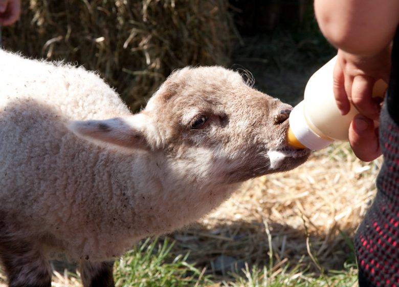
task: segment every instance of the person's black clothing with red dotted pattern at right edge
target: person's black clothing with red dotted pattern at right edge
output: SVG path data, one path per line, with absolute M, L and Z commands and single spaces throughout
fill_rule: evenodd
M 380 116 L 384 163 L 377 194 L 356 236 L 359 286 L 399 286 L 399 32 L 392 50 L 388 93 Z

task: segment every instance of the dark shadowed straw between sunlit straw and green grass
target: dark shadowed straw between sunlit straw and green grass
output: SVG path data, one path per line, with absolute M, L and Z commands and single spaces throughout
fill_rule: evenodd
M 344 270 L 345 262 L 354 262 L 351 243 L 348 245 L 346 241 L 352 241 L 347 234 L 352 235 L 353 231 L 342 231 L 343 235 L 335 231 L 333 236 L 307 236 L 304 229 L 280 223 L 269 222 L 265 226 L 259 221 L 229 221 L 220 222 L 212 229 L 197 223 L 170 237 L 175 241 L 172 249 L 175 255 L 189 253 L 189 260 L 198 269 L 206 267 L 207 273 L 216 278 L 226 279 L 230 273 L 239 273 L 245 263 L 250 267 L 254 264 L 269 267 L 271 258 L 273 266 L 287 267 L 287 272 L 300 264 L 301 271 L 318 276 L 329 270 Z M 309 256 L 308 250 L 317 261 Z

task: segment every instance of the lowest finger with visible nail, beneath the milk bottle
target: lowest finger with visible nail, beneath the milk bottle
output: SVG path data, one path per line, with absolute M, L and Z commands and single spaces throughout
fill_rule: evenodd
M 371 161 L 381 155 L 378 129 L 373 120 L 356 115 L 349 127 L 349 142 L 354 154 L 364 161 Z

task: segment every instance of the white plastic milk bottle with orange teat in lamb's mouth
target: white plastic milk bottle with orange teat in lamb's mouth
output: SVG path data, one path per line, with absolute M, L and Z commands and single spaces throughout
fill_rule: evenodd
M 295 148 L 320 150 L 334 140 L 348 140 L 348 130 L 353 117 L 359 112 L 351 106 L 341 115 L 334 97 L 333 71 L 336 57 L 312 75 L 306 84 L 304 99 L 290 114 L 287 143 Z M 387 85 L 379 80 L 374 85 L 373 96 L 384 96 Z

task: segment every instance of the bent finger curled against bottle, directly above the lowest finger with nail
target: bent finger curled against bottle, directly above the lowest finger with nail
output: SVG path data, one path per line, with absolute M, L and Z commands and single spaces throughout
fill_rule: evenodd
M 380 105 L 372 97 L 374 83 L 375 80 L 371 77 L 363 75 L 354 77 L 349 98 L 356 109 L 370 119 L 378 119 L 380 114 Z

